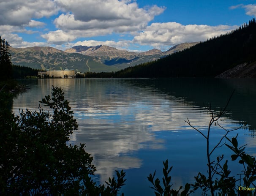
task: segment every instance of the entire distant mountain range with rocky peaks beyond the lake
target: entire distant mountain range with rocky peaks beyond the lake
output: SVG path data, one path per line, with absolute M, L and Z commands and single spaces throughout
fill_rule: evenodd
M 110 46 L 74 46 L 65 51 L 49 46 L 13 48 L 10 46 L 11 61 L 14 65 L 34 69 L 74 69 L 79 72 L 109 72 L 151 62 L 169 54 L 182 51 L 198 44 L 183 43 L 162 52 L 152 49 L 147 52 L 129 52 Z

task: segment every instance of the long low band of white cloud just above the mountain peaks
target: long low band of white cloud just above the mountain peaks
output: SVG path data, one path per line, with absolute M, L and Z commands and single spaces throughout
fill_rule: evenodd
M 74 24 L 75 25 L 75 24 Z M 97 46 L 97 45 L 107 45 L 116 47 L 117 49 L 129 49 L 130 46 L 134 44 L 147 45 L 153 48 L 166 50 L 171 46 L 184 42 L 194 42 L 194 41 L 205 41 L 214 36 L 225 34 L 233 29 L 238 28 L 238 26 L 228 26 L 228 25 L 197 25 L 189 24 L 182 25 L 177 22 L 166 22 L 166 23 L 153 23 L 146 29 L 137 33 L 133 40 L 123 40 L 123 41 L 78 41 L 75 44 L 68 44 L 67 46 Z M 88 30 L 70 30 L 61 31 L 57 30 L 50 32 L 48 34 L 42 35 L 43 38 L 47 39 L 52 44 L 64 44 L 65 42 L 74 41 L 79 37 L 90 37 L 97 36 L 104 33 L 112 33 L 108 31 L 109 29 L 101 29 L 95 31 L 93 29 Z

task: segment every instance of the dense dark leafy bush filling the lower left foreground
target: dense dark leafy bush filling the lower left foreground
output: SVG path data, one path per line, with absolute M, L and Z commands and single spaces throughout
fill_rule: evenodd
M 63 91 L 52 88 L 38 111 L 14 115 L 10 94 L 0 92 L 0 195 L 117 195 L 125 172 L 116 171 L 105 185 L 96 185 L 93 157 L 85 144 L 67 145 L 78 128 Z

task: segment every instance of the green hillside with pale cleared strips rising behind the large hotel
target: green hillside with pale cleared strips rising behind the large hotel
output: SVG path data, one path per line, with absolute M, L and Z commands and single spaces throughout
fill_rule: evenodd
M 11 61 L 14 65 L 33 69 L 74 69 L 75 71 L 117 71 L 97 62 L 93 57 L 78 53 L 67 53 L 52 47 L 32 47 L 14 49 L 10 47 Z

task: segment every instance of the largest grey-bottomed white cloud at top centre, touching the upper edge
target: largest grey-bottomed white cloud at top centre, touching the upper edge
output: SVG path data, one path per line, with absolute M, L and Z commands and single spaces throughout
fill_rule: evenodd
M 139 8 L 137 3 L 127 0 L 55 0 L 55 2 L 66 12 L 54 20 L 55 26 L 66 34 L 76 37 L 143 30 L 148 22 L 165 10 L 156 5 Z

